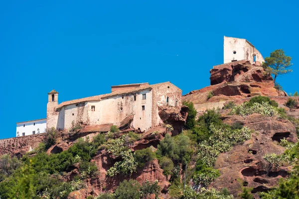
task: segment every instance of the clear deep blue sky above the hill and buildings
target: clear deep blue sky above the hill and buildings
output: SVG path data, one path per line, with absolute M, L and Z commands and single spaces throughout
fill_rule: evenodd
M 224 35 L 264 57 L 284 49 L 294 73 L 278 82 L 294 93 L 298 10 L 296 0 L 1 0 L 0 138 L 15 136 L 15 122 L 45 118 L 53 88 L 62 102 L 119 84 L 170 81 L 183 94 L 208 86 Z

